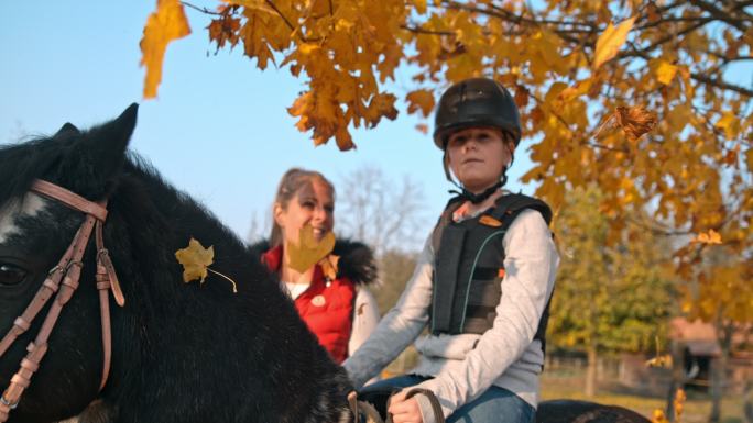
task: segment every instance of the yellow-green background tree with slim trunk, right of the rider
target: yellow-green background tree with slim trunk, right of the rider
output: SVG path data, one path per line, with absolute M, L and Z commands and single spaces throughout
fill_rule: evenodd
M 625 230 L 609 245 L 609 220 L 594 208 L 603 194 L 594 186 L 568 194 L 557 220 L 561 253 L 552 304 L 549 338 L 560 348 L 588 356 L 585 393 L 596 393 L 601 352 L 653 350 L 666 343 L 673 288 L 662 271 L 667 243 Z

